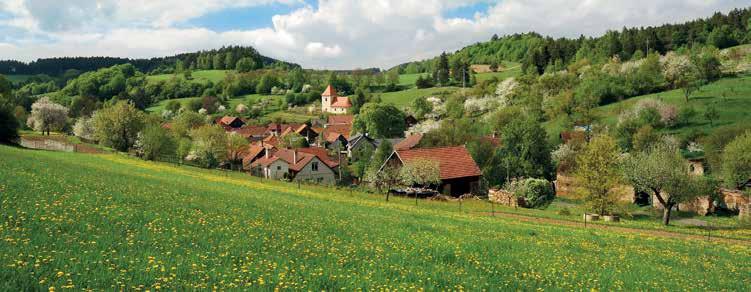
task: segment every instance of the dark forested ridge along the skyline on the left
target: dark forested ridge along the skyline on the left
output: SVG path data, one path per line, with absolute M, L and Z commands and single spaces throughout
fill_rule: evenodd
M 0 61 L 0 74 L 46 74 L 63 75 L 68 70 L 80 72 L 96 71 L 114 65 L 131 63 L 141 72 L 171 73 L 176 67 L 184 69 L 234 69 L 237 61 L 250 58 L 257 68 L 283 66 L 299 67 L 297 64 L 279 61 L 261 55 L 253 47 L 230 46 L 221 49 L 178 54 L 151 59 L 129 59 L 115 57 L 61 57 L 37 59 L 30 63 L 15 60 Z M 182 69 L 182 68 L 181 68 Z M 75 74 L 77 75 L 77 74 Z

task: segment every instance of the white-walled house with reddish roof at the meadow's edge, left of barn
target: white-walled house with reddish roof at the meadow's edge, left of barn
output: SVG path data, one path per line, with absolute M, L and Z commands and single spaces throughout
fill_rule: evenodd
M 334 184 L 336 167 L 338 164 L 323 156 L 320 150 L 311 149 L 281 149 L 273 153 L 267 151 L 264 157 L 250 165 L 251 173 L 265 178 L 319 184 Z

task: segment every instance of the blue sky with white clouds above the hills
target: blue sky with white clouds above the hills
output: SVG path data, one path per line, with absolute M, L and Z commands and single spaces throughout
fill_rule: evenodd
M 306 68 L 387 68 L 499 35 L 599 35 L 751 0 L 0 0 L 0 59 L 251 45 Z

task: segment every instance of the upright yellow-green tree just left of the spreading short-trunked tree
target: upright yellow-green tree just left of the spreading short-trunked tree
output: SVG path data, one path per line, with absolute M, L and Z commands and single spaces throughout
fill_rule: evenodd
M 576 182 L 585 194 L 588 207 L 600 215 L 611 212 L 618 201 L 612 190 L 621 179 L 620 152 L 613 138 L 597 136 L 577 158 Z

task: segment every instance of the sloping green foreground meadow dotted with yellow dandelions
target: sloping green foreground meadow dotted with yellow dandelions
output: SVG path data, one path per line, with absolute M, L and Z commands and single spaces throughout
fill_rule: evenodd
M 745 290 L 751 248 L 0 146 L 0 289 Z

